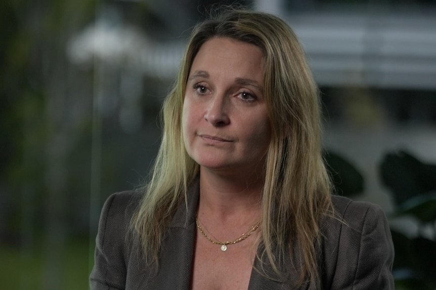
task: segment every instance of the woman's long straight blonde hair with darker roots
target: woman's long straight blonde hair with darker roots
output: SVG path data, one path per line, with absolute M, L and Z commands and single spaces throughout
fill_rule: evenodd
M 132 220 L 150 265 L 158 263 L 165 226 L 186 203 L 188 186 L 198 165 L 184 147 L 181 116 L 186 83 L 201 45 L 212 37 L 231 37 L 254 44 L 264 54 L 264 96 L 272 127 L 261 200 L 262 231 L 258 258 L 289 282 L 287 253 L 300 257 L 299 283 L 320 284 L 321 218 L 332 213 L 330 182 L 322 159 L 318 88 L 297 37 L 273 15 L 226 9 L 198 24 L 189 39 L 175 85 L 163 107 L 163 138 L 151 181 Z M 176 165 L 175 165 L 176 164 Z M 295 247 L 297 246 L 297 247 Z M 274 252 L 280 253 L 279 257 Z M 295 268 L 293 268 L 295 270 Z

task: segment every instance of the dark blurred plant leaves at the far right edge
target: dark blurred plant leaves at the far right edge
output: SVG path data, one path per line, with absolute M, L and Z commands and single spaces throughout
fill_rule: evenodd
M 388 153 L 380 164 L 380 176 L 396 205 L 394 216 L 412 216 L 422 228 L 433 228 L 433 239 L 418 233 L 407 237 L 391 230 L 395 246 L 394 277 L 398 289 L 436 287 L 436 165 L 410 153 Z

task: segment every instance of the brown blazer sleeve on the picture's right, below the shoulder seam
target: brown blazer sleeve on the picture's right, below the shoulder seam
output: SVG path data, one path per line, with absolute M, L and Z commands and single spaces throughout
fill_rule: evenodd
M 343 221 L 331 289 L 394 289 L 394 245 L 382 209 L 352 201 L 344 211 Z

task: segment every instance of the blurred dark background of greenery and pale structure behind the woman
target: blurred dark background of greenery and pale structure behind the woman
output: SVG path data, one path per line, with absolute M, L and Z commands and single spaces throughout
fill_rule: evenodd
M 436 289 L 435 0 L 2 0 L 2 288 L 88 288 L 101 206 L 147 178 L 162 99 L 216 3 L 294 29 L 337 194 L 385 210 L 398 289 Z

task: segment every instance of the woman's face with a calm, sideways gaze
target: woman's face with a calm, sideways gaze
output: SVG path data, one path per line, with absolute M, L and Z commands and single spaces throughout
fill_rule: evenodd
M 186 150 L 201 167 L 247 174 L 263 165 L 271 127 L 262 59 L 257 46 L 227 37 L 206 41 L 195 56 L 182 122 Z

